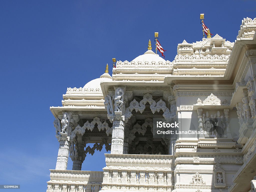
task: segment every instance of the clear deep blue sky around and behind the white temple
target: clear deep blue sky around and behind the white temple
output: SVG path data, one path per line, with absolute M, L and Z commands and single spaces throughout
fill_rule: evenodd
M 46 191 L 59 147 L 49 107 L 61 106 L 67 87 L 100 77 L 113 57 L 142 55 L 155 31 L 172 61 L 178 43 L 202 39 L 200 13 L 211 33 L 233 42 L 255 12 L 249 0 L 1 1 L 0 184 Z M 102 170 L 104 152 L 88 155 L 82 170 Z

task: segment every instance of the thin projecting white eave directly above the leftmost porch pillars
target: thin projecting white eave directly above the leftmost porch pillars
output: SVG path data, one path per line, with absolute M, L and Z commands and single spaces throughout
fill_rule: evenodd
M 104 114 L 106 113 L 105 107 L 104 108 L 103 107 L 88 108 L 83 106 L 58 106 L 58 107 L 51 106 L 50 111 L 52 112 L 55 118 L 58 118 L 58 113 L 62 111 L 102 112 Z

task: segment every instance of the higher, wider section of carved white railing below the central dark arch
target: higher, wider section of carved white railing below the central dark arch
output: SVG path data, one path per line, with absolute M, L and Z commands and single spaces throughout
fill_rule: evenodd
M 105 154 L 102 191 L 171 191 L 172 155 Z

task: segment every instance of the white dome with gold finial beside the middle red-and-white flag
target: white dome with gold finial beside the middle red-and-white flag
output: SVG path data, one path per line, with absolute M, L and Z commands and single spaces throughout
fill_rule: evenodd
M 166 60 L 164 60 L 162 57 L 159 57 L 159 55 L 155 54 L 152 50 L 146 51 L 143 55 L 140 55 L 140 56 L 136 57 L 132 61 L 134 61 L 134 62 L 140 61 L 142 63 L 144 63 L 144 62 L 151 63 L 152 61 L 154 61 L 156 63 L 158 63 L 160 61 L 163 62 L 163 63 L 166 62 Z

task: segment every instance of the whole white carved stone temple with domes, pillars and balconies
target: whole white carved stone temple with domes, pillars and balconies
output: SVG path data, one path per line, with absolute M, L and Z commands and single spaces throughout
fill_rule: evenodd
M 59 151 L 46 191 L 255 192 L 255 31 L 256 18 L 244 18 L 235 42 L 184 40 L 173 61 L 148 42 L 112 76 L 107 66 L 68 88 L 62 106 L 50 107 Z M 178 126 L 158 134 L 156 119 Z M 82 171 L 103 147 L 103 171 Z

